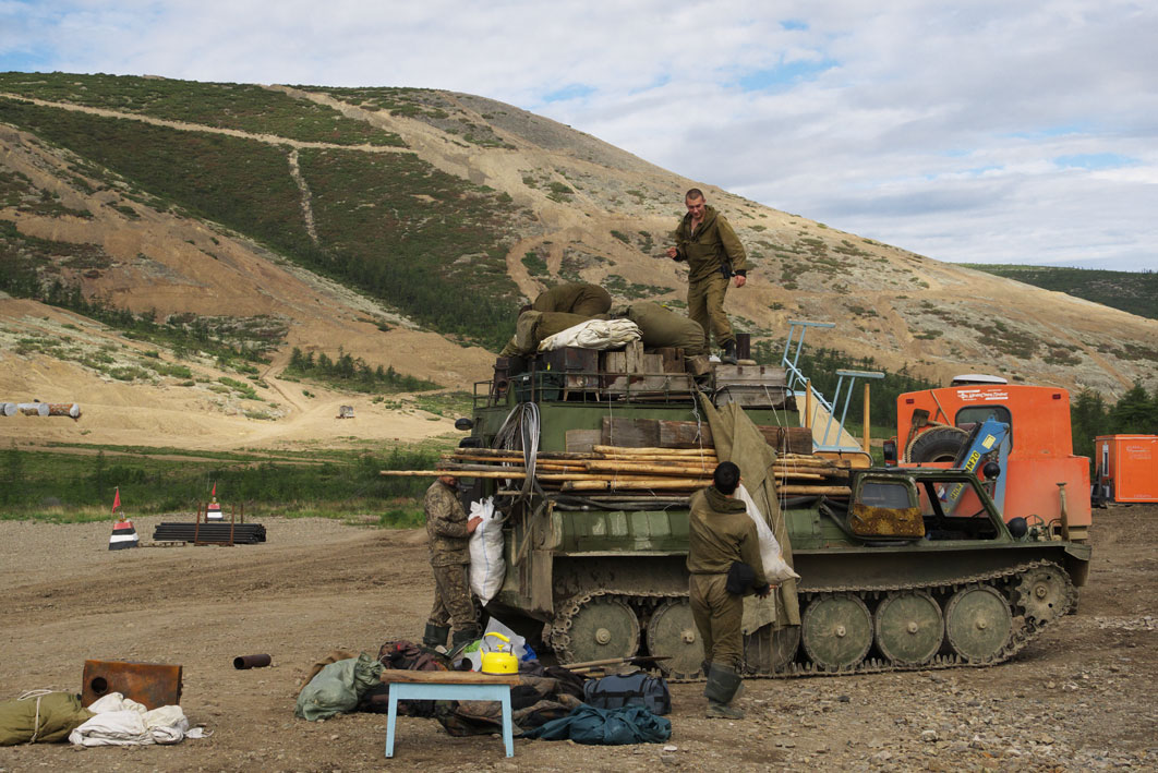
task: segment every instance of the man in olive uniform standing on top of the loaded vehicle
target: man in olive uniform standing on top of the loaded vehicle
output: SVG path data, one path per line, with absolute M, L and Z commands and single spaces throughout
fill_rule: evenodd
M 735 286 L 748 281 L 748 256 L 727 220 L 708 206 L 698 187 L 683 199 L 688 214 L 675 229 L 675 246 L 667 257 L 688 262 L 688 316 L 704 329 L 704 339 L 724 349 L 724 362 L 735 365 L 735 336 L 724 314 L 724 296 L 730 278 Z

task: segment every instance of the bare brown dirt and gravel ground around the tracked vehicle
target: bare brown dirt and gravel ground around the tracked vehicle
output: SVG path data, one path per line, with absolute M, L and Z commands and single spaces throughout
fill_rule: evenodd
M 159 521 L 135 521 L 145 540 Z M 741 722 L 703 719 L 702 685 L 673 685 L 667 750 L 516 741 L 508 760 L 496 737 L 450 738 L 434 720 L 403 717 L 394 763 L 383 715 L 312 723 L 293 705 L 331 648 L 376 654 L 420 638 L 425 533 L 263 522 L 264 545 L 117 552 L 108 523 L 0 522 L 0 699 L 76 692 L 86 658 L 177 663 L 185 713 L 213 732 L 175 746 L 3 748 L 0 771 L 1158 768 L 1158 506 L 1095 511 L 1078 613 L 1013 662 L 749 680 Z M 234 670 L 235 656 L 256 653 L 273 667 Z

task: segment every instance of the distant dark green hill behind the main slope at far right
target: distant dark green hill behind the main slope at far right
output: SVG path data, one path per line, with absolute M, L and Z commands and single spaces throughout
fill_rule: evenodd
M 1158 319 L 1158 272 L 963 264 L 977 271 Z

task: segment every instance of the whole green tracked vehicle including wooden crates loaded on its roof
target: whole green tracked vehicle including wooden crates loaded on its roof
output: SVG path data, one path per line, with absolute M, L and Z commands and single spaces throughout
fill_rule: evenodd
M 565 491 L 536 473 L 535 461 L 600 442 L 696 448 L 706 439 L 697 391 L 716 405 L 740 403 L 782 451 L 799 450 L 800 412 L 779 368 L 716 366 L 694 378 L 670 353 L 615 355 L 500 359 L 496 378 L 476 389 L 463 446 L 514 449 L 527 472 L 476 479 L 470 494 L 496 495 L 507 514 L 506 579 L 488 610 L 541 636 L 562 663 L 650 654 L 664 656 L 676 679 L 701 678 L 684 567 L 687 493 L 640 494 L 626 483 L 598 494 Z M 801 577 L 800 624 L 747 632 L 748 673 L 992 664 L 1073 609 L 1089 545 L 1048 527 L 1006 525 L 991 498 L 996 464 L 982 459 L 969 472 L 829 457 L 846 478 L 843 491 L 784 487 L 793 493 L 779 496 Z

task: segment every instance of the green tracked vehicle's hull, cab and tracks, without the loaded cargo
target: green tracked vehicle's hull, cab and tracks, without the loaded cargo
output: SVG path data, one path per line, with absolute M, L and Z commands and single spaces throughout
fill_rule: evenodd
M 471 443 L 490 447 L 519 399 L 538 407 L 540 451 L 566 450 L 570 430 L 606 417 L 697 421 L 695 402 L 569 402 L 507 390 L 481 399 Z M 555 397 L 557 399 L 543 399 Z M 757 425 L 799 426 L 793 410 L 753 407 Z M 514 484 L 518 486 L 518 484 Z M 945 511 L 941 492 L 967 494 Z M 853 673 L 991 664 L 1076 605 L 1090 547 L 1045 529 L 1014 536 L 972 472 L 852 470 L 851 496 L 782 502 L 800 575 L 801 625 L 746 634 L 747 671 Z M 478 493 L 493 493 L 488 481 Z M 699 678 L 702 648 L 687 602 L 686 499 L 642 509 L 533 493 L 510 510 L 506 577 L 488 609 L 541 634 L 562 662 L 664 655 L 675 678 Z

